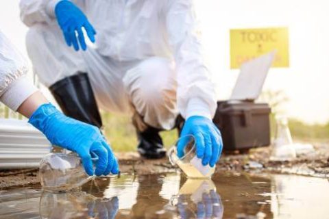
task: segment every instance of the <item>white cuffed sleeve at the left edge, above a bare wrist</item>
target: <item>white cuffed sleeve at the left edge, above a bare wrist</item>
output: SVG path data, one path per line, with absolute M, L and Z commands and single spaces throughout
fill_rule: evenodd
M 0 31 L 0 101 L 14 111 L 37 90 L 26 79 L 27 69 L 25 58 Z

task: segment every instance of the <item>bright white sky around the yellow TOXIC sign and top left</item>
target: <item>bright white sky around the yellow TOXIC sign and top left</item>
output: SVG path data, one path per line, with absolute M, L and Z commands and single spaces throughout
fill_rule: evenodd
M 156 1 L 156 0 L 154 0 Z M 271 68 L 264 90 L 284 90 L 287 114 L 307 123 L 329 121 L 328 0 L 197 0 L 204 48 L 219 99 L 230 96 L 239 70 L 230 70 L 230 29 L 289 27 L 290 67 Z M 0 1 L 0 29 L 25 51 L 27 28 L 19 1 Z

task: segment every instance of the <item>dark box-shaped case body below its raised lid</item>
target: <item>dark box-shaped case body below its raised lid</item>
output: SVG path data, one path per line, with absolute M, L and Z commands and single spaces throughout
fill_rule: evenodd
M 269 114 L 267 103 L 253 101 L 219 101 L 213 119 L 221 131 L 223 150 L 251 149 L 270 144 Z

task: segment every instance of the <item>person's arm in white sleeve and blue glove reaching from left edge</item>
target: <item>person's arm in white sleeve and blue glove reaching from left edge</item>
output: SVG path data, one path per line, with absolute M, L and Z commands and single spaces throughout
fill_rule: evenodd
M 0 31 L 0 102 L 29 118 L 28 122 L 52 144 L 80 155 L 88 175 L 118 174 L 117 159 L 99 129 L 56 110 L 27 79 L 27 66 L 25 58 Z M 95 171 L 94 155 L 98 157 Z

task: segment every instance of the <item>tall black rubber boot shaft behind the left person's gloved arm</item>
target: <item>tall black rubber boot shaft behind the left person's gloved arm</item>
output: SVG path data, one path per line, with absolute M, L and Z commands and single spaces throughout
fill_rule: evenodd
M 86 73 L 57 81 L 49 90 L 66 116 L 102 127 L 93 88 Z

